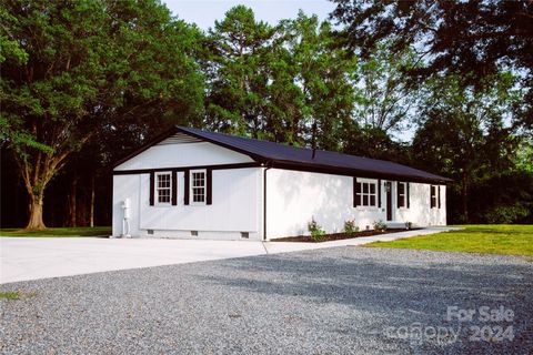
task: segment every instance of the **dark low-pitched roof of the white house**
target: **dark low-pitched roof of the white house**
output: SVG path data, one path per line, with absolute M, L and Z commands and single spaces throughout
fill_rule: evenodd
M 165 138 L 182 132 L 209 141 L 230 150 L 243 153 L 266 166 L 292 169 L 300 171 L 322 172 L 330 174 L 353 175 L 359 178 L 381 178 L 405 180 L 412 182 L 446 183 L 451 179 L 428 173 L 422 170 L 396 164 L 393 162 L 342 154 L 330 151 L 298 148 L 269 141 L 253 140 L 242 136 L 214 133 L 198 129 L 174 126 L 167 134 L 158 136 L 133 154 L 121 160 L 119 164 Z

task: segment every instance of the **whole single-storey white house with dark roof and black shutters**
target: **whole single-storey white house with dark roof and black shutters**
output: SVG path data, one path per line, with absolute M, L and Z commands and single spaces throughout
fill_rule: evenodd
M 174 126 L 113 170 L 113 236 L 272 240 L 344 221 L 446 224 L 450 180 L 396 163 Z

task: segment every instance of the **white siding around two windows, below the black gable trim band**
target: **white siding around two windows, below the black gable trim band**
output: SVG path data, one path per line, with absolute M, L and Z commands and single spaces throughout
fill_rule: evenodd
M 184 205 L 184 173 L 178 172 L 178 204 L 151 206 L 150 175 L 115 175 L 113 179 L 113 235 L 121 234 L 124 199 L 131 201 L 131 235 L 155 237 L 260 239 L 261 169 L 213 170 L 212 204 Z M 153 230 L 153 235 L 148 234 Z

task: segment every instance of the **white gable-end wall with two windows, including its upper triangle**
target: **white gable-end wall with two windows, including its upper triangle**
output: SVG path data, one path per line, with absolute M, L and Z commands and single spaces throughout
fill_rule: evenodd
M 154 145 L 115 170 L 185 168 L 245 163 L 252 160 L 218 145 Z M 212 170 L 212 204 L 184 205 L 184 172 L 178 171 L 177 205 L 150 205 L 150 174 L 113 176 L 113 236 L 122 234 L 122 201 L 130 200 L 130 234 L 134 237 L 241 239 L 262 234 L 262 169 Z M 152 230 L 153 234 L 148 234 Z M 198 231 L 192 236 L 191 231 Z

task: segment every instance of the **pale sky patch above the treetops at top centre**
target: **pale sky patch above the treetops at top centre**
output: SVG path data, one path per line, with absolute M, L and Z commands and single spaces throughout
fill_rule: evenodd
M 255 19 L 270 24 L 281 19 L 294 19 L 300 9 L 306 14 L 316 14 L 325 20 L 334 4 L 326 0 L 162 0 L 174 16 L 185 22 L 194 22 L 202 30 L 214 24 L 214 20 L 224 18 L 232 7 L 244 4 L 253 10 Z

